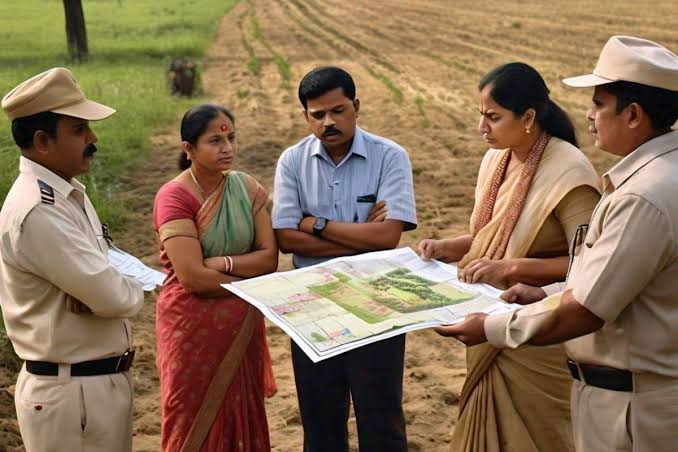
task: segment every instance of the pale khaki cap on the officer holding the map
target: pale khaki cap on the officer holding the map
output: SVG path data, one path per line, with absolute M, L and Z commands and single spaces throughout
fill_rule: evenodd
M 563 83 L 582 88 L 622 80 L 678 91 L 678 56 L 647 39 L 612 36 L 592 74 L 566 78 Z

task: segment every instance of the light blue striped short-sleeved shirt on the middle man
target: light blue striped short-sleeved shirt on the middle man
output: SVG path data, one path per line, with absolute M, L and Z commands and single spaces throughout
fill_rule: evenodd
M 275 172 L 273 229 L 297 229 L 305 216 L 364 223 L 376 201 L 386 201 L 387 219 L 406 231 L 417 227 L 412 166 L 393 141 L 356 127 L 351 149 L 335 165 L 314 135 L 282 153 Z M 328 260 L 294 255 L 297 268 Z

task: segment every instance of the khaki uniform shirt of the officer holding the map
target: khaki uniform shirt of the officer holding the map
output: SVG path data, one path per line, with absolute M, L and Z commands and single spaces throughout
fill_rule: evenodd
M 567 353 L 580 363 L 678 378 L 678 131 L 638 147 L 603 186 L 567 288 L 605 325 L 567 341 Z M 488 341 L 529 341 L 555 305 L 547 299 L 488 317 Z

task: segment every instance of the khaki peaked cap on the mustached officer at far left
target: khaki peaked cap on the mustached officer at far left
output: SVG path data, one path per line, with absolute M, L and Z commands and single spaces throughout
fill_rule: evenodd
M 2 98 L 2 109 L 10 120 L 51 111 L 97 121 L 115 113 L 111 107 L 88 100 L 73 73 L 61 67 L 22 82 Z

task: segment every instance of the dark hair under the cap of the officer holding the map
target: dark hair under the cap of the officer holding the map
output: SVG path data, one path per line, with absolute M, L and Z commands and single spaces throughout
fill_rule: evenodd
M 626 81 L 600 87 L 617 98 L 617 114 L 635 102 L 650 117 L 655 130 L 668 129 L 678 120 L 678 91 Z

